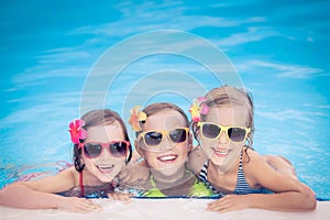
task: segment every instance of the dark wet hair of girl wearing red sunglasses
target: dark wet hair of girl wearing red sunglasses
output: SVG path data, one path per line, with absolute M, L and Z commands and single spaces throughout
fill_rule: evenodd
M 82 127 L 87 132 L 88 129 L 91 127 L 97 127 L 97 125 L 109 125 L 114 123 L 116 121 L 120 123 L 123 134 L 124 134 L 124 140 L 130 141 L 129 134 L 127 127 L 123 122 L 123 120 L 120 118 L 120 116 L 110 110 L 110 109 L 100 109 L 100 110 L 92 110 L 87 113 L 85 113 L 81 119 L 85 121 L 85 125 Z M 84 143 L 85 140 L 80 139 L 80 143 Z M 125 163 L 128 164 L 131 158 L 132 158 L 132 145 L 130 144 L 129 147 L 129 155 L 125 158 Z M 75 163 L 75 168 L 77 172 L 82 172 L 85 168 L 85 164 L 81 163 L 81 153 L 82 148 L 78 147 L 78 144 L 74 145 L 74 163 Z

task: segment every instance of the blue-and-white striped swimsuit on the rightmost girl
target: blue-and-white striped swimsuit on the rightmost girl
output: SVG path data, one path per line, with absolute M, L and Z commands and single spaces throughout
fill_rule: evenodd
M 267 191 L 267 189 L 265 188 L 251 188 L 249 183 L 245 179 L 244 176 L 244 170 L 243 170 L 243 165 L 242 165 L 242 153 L 240 156 L 240 165 L 239 165 L 239 172 L 238 172 L 238 183 L 235 186 L 235 189 L 232 194 L 237 194 L 237 195 L 243 195 L 243 194 L 267 194 L 270 191 Z M 226 194 L 218 191 L 209 182 L 208 182 L 208 166 L 209 166 L 209 160 L 204 164 L 198 178 L 205 183 L 212 191 L 215 195 L 223 197 L 226 196 Z

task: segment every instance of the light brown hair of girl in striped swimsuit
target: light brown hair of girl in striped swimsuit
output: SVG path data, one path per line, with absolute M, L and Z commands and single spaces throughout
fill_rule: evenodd
M 235 88 L 230 86 L 222 86 L 210 90 L 205 96 L 205 103 L 209 108 L 213 107 L 230 107 L 230 106 L 241 106 L 246 109 L 248 120 L 245 127 L 251 128 L 251 132 L 248 134 L 246 146 L 252 148 L 253 143 L 253 132 L 254 132 L 254 121 L 253 121 L 253 99 L 251 94 L 242 88 Z M 201 121 L 206 121 L 207 116 L 201 114 Z M 191 130 L 195 139 L 199 142 L 197 138 L 197 123 L 191 122 Z

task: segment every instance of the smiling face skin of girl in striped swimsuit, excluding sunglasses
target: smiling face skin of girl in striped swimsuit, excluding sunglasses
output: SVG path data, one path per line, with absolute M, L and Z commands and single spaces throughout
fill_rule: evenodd
M 242 106 L 212 107 L 206 118 L 206 122 L 221 125 L 246 127 L 248 113 Z M 231 142 L 226 132 L 215 140 L 205 139 L 198 132 L 201 146 L 208 158 L 219 167 L 219 170 L 227 172 L 239 157 L 244 142 Z

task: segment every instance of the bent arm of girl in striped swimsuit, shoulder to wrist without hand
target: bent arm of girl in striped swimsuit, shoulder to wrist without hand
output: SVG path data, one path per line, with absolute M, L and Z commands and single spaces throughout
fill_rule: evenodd
M 316 209 L 314 194 L 298 179 L 274 170 L 255 152 L 251 153 L 251 164 L 248 163 L 250 172 L 246 175 L 251 175 L 258 185 L 274 191 L 274 194 L 249 195 L 251 196 L 252 208 L 279 211 L 310 211 Z

